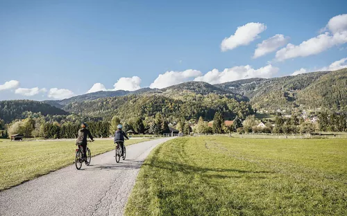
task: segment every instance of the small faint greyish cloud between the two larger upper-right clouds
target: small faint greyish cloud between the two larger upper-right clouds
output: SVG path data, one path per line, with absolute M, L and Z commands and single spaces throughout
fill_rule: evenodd
M 266 55 L 267 53 L 271 53 L 276 51 L 281 46 L 285 46 L 289 40 L 289 37 L 285 37 L 285 35 L 275 35 L 262 41 L 262 43 L 257 44 L 257 48 L 254 51 L 253 58 L 260 57 L 262 55 Z

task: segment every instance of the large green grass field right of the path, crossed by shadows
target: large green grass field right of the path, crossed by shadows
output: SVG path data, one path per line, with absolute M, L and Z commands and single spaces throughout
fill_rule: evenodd
M 126 215 L 347 215 L 347 139 L 176 138 L 142 165 Z

